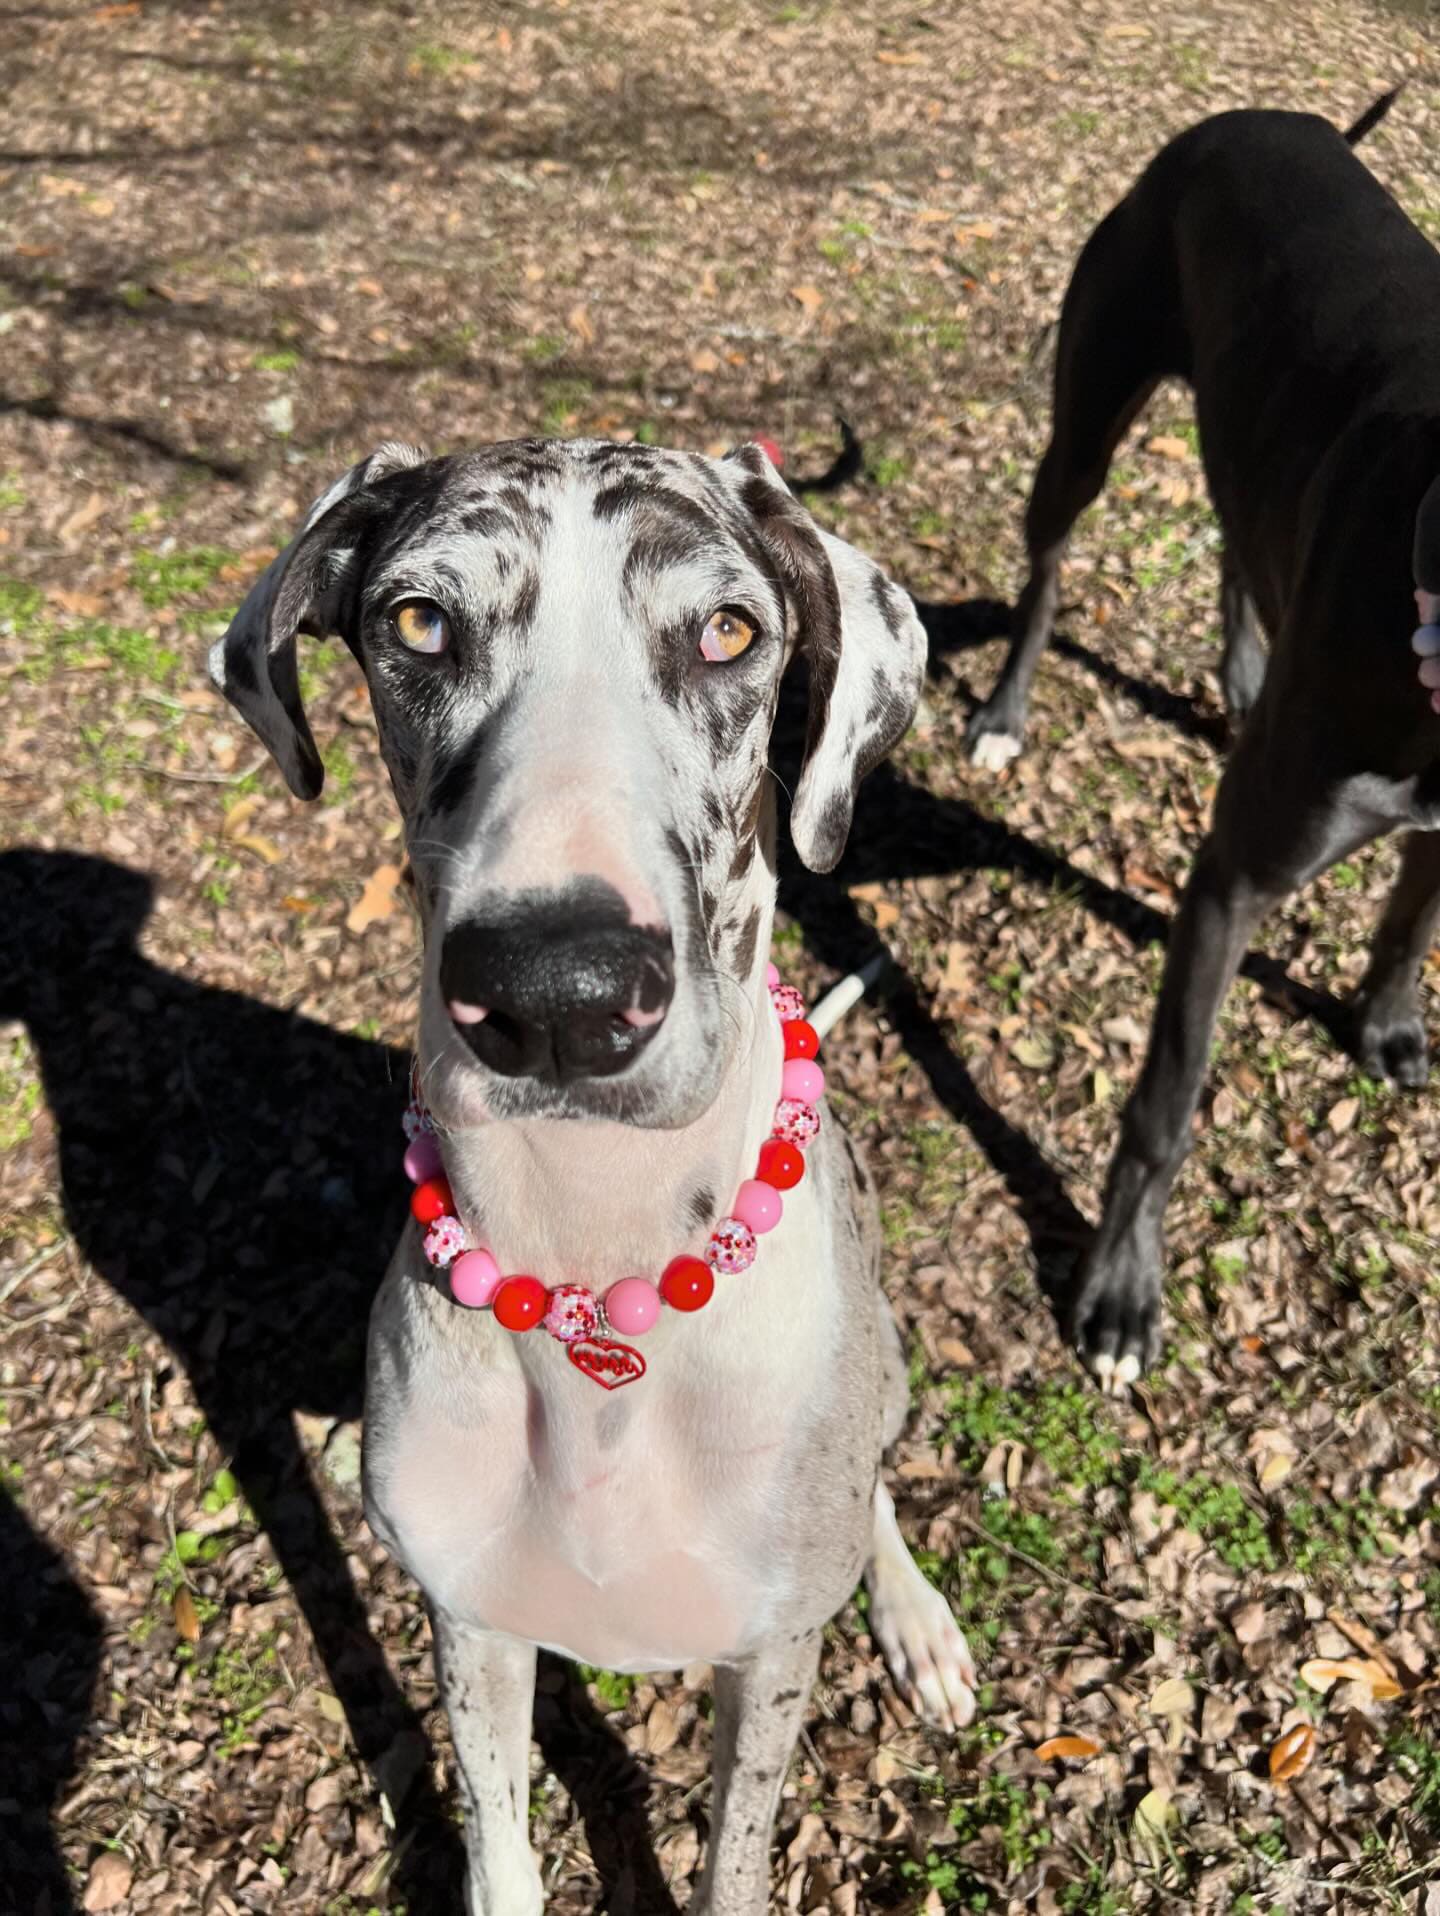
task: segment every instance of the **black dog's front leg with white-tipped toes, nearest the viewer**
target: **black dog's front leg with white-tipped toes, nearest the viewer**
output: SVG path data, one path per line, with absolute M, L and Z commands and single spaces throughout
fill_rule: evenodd
M 1277 701 L 1281 705 L 1285 701 Z M 1384 830 L 1317 774 L 1294 741 L 1314 740 L 1256 715 L 1216 797 L 1170 937 L 1139 1083 L 1120 1119 L 1105 1213 L 1070 1311 L 1076 1349 L 1105 1387 L 1132 1383 L 1160 1341 L 1164 1207 L 1191 1146 L 1191 1119 L 1220 1004 L 1264 914 Z

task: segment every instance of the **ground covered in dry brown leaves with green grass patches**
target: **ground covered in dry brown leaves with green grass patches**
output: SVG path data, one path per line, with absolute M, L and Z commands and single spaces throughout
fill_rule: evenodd
M 934 673 L 841 872 L 787 872 L 779 947 L 812 991 L 896 960 L 827 1063 L 913 1357 L 902 1523 L 984 1690 L 975 1732 L 936 1738 L 864 1608 L 837 1619 L 776 1908 L 1440 1908 L 1440 1115 L 1331 1033 L 1392 847 L 1281 912 L 1229 998 L 1166 1357 L 1128 1404 L 1038 1282 L 1095 1217 L 1220 770 L 1183 393 L 1082 525 L 1028 757 L 959 751 L 1082 238 L 1170 132 L 1350 119 L 1432 67 L 1438 23 L 0 13 L 0 1910 L 458 1906 L 429 1631 L 356 1496 L 404 1199 L 398 828 L 339 648 L 306 663 L 329 782 L 304 809 L 205 642 L 383 437 L 764 431 L 806 471 L 837 410 L 866 473 L 816 512 L 927 602 Z M 1440 232 L 1434 125 L 1417 84 L 1365 157 Z M 555 1910 L 686 1906 L 707 1684 L 544 1669 Z

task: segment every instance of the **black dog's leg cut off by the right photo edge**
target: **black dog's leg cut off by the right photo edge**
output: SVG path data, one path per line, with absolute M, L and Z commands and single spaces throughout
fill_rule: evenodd
M 1419 979 L 1440 924 L 1440 832 L 1411 832 L 1400 876 L 1369 947 L 1354 998 L 1356 1056 L 1371 1077 L 1419 1088 L 1430 1071 Z

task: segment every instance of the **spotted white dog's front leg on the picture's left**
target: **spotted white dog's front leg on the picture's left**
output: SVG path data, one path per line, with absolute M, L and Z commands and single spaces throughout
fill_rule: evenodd
M 529 1836 L 534 1646 L 442 1611 L 433 1623 L 465 1805 L 465 1916 L 540 1916 Z

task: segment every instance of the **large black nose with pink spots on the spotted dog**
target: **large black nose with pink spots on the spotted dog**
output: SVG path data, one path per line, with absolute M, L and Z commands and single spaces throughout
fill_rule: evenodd
M 504 1077 L 624 1071 L 674 996 L 668 931 L 630 924 L 619 893 L 507 901 L 446 933 L 440 991 L 469 1048 Z

